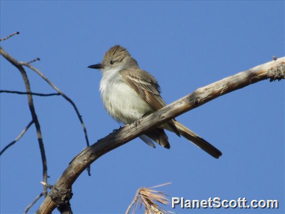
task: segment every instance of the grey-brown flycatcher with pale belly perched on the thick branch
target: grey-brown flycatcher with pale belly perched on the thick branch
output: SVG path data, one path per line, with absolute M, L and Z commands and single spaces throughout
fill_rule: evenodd
M 158 81 L 138 67 L 129 52 L 119 46 L 111 47 L 100 64 L 88 68 L 100 69 L 100 93 L 106 111 L 116 121 L 131 124 L 142 117 L 162 109 L 166 103 L 161 97 Z M 203 138 L 175 119 L 157 127 L 139 138 L 155 148 L 153 141 L 169 149 L 170 144 L 164 129 L 182 135 L 214 158 L 222 153 Z

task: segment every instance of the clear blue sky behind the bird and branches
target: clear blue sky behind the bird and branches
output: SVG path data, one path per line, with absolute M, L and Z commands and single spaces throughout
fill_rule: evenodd
M 284 2 L 1 1 L 1 46 L 33 65 L 77 104 L 92 143 L 118 128 L 105 112 L 101 61 L 115 44 L 159 80 L 167 103 L 224 77 L 284 56 Z M 19 71 L 1 59 L 1 89 L 24 91 Z M 54 92 L 27 69 L 34 92 Z M 1 149 L 31 121 L 25 95 L 1 93 Z M 85 147 L 72 106 L 34 97 L 55 183 Z M 171 149 L 139 139 L 109 152 L 73 185 L 74 213 L 123 213 L 141 186 L 186 199 L 277 199 L 278 209 L 167 209 L 177 213 L 284 213 L 284 81 L 261 81 L 177 118 L 223 152 L 216 160 L 169 133 Z M 1 213 L 22 213 L 42 191 L 35 128 L 1 156 Z M 15 202 L 16 201 L 16 202 Z M 31 209 L 34 212 L 42 200 Z M 143 210 L 139 210 L 139 213 Z M 55 210 L 55 213 L 57 211 Z

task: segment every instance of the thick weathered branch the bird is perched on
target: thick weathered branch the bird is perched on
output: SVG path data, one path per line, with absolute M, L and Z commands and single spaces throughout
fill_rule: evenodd
M 284 79 L 285 78 L 285 57 L 256 66 L 247 71 L 226 77 L 202 88 L 198 88 L 193 93 L 178 99 L 165 106 L 163 109 L 140 119 L 138 122 L 124 126 L 118 131 L 109 134 L 98 140 L 93 145 L 85 148 L 78 154 L 64 170 L 61 177 L 53 185 L 51 192 L 55 188 L 71 189 L 72 184 L 91 163 L 107 152 L 129 142 L 130 140 L 158 127 L 167 121 L 182 115 L 206 102 L 217 98 L 231 91 L 243 88 L 247 85 L 261 80 Z M 56 208 L 56 203 L 48 195 L 37 213 L 51 213 Z

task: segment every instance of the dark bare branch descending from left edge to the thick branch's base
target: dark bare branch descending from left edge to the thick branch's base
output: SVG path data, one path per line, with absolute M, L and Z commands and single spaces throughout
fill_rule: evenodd
M 6 51 L 4 51 L 2 47 L 0 47 L 0 53 L 2 56 L 4 56 L 4 58 L 6 58 L 9 62 L 11 62 L 16 68 L 18 68 L 18 70 L 20 71 L 20 73 L 23 77 L 23 80 L 24 80 L 24 83 L 26 86 L 26 90 L 28 92 L 27 96 L 28 96 L 28 104 L 29 104 L 30 112 L 31 112 L 31 115 L 33 118 L 33 122 L 35 123 L 36 130 L 37 130 L 38 142 L 39 142 L 39 146 L 40 146 L 42 164 L 43 164 L 43 180 L 44 180 L 44 182 L 47 183 L 48 167 L 47 167 L 47 159 L 46 159 L 46 154 L 45 154 L 45 147 L 44 147 L 44 143 L 43 143 L 41 126 L 40 126 L 40 123 L 38 121 L 38 117 L 37 117 L 37 114 L 35 111 L 33 96 L 31 94 L 31 87 L 30 87 L 30 82 L 29 82 L 27 73 L 26 73 L 24 67 L 16 59 L 14 59 Z M 47 187 L 46 186 L 44 186 L 43 194 L 44 194 L 44 196 L 47 196 Z

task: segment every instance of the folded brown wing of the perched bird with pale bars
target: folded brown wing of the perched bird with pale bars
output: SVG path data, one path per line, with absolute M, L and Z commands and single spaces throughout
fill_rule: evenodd
M 158 111 L 166 106 L 165 101 L 160 95 L 161 91 L 158 81 L 149 72 L 136 68 L 136 70 L 124 69 L 121 70 L 120 73 L 125 82 L 127 82 L 141 98 L 145 99 L 154 111 Z M 180 136 L 173 122 L 170 121 L 168 124 L 171 129 Z

